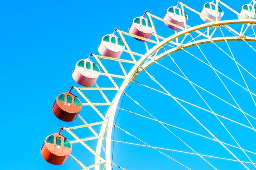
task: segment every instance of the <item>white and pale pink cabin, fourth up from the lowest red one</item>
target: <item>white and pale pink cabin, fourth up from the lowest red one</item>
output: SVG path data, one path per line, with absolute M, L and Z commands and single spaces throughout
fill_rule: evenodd
M 119 58 L 124 50 L 124 43 L 114 34 L 107 34 L 102 37 L 98 46 L 99 54 L 106 57 Z

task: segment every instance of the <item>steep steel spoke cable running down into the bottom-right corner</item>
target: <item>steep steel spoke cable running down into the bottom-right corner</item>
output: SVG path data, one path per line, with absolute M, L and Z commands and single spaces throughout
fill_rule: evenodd
M 166 49 L 164 48 L 164 50 L 166 51 Z M 198 92 L 198 90 L 195 88 L 195 86 L 189 81 L 189 79 L 186 77 L 186 75 L 184 74 L 184 72 L 181 70 L 181 68 L 177 65 L 177 63 L 175 62 L 175 60 L 171 57 L 170 54 L 168 54 L 169 57 L 172 59 L 172 62 L 175 63 L 175 65 L 177 66 L 177 68 L 180 70 L 180 72 L 183 74 L 183 76 L 186 78 L 186 80 L 190 83 L 190 85 L 192 85 L 192 87 L 194 88 L 194 90 L 197 92 L 197 94 L 201 97 L 201 99 L 204 101 L 204 103 L 207 105 L 207 107 L 212 111 L 212 108 L 208 105 L 208 103 L 205 101 L 205 99 L 203 98 L 203 96 L 201 96 L 201 94 Z M 249 89 L 248 89 L 249 90 Z M 240 108 L 240 107 L 239 107 Z M 240 108 L 241 109 L 241 108 Z M 227 133 L 231 136 L 231 138 L 236 142 L 236 144 L 241 148 L 240 144 L 236 141 L 236 139 L 233 137 L 233 135 L 230 133 L 230 131 L 227 129 L 227 127 L 224 125 L 223 122 L 221 122 L 221 120 L 218 118 L 217 115 L 215 115 L 215 117 L 218 119 L 218 121 L 221 123 L 221 125 L 224 127 L 224 129 L 227 131 Z M 242 148 L 241 148 L 242 149 Z M 247 156 L 247 154 L 244 152 L 244 150 L 242 150 L 243 153 Z M 247 158 L 253 163 L 253 161 L 250 159 L 249 156 L 247 156 Z M 253 164 L 254 165 L 254 164 Z M 255 165 L 254 165 L 255 166 Z M 255 166 L 256 167 L 256 166 Z

